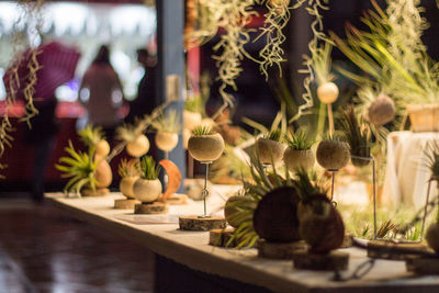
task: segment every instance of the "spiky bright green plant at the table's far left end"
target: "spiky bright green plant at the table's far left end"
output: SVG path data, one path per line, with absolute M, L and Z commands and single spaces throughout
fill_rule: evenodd
M 63 172 L 63 178 L 70 178 L 64 191 L 66 193 L 75 191 L 79 194 L 80 190 L 86 185 L 95 190 L 98 181 L 94 178 L 94 170 L 100 161 L 93 160 L 94 147 L 90 147 L 89 153 L 82 153 L 76 150 L 69 140 L 65 150 L 69 156 L 59 158 L 59 164 L 55 165 L 56 169 Z

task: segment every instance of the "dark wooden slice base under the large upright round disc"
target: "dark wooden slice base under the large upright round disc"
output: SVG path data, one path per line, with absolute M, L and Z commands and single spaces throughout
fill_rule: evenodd
M 307 245 L 305 241 L 294 243 L 268 243 L 264 239 L 258 240 L 258 257 L 271 259 L 292 259 L 294 252 L 305 251 Z

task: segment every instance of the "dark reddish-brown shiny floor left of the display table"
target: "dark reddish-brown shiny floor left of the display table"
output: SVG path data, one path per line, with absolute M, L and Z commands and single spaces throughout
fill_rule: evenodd
M 153 292 L 148 249 L 47 204 L 0 198 L 0 292 Z

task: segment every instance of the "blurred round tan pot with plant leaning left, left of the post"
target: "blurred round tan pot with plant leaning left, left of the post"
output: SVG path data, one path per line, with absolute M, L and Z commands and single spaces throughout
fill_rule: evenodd
M 124 124 L 116 128 L 116 138 L 125 142 L 126 153 L 132 157 L 139 158 L 149 150 L 149 140 L 143 132 L 140 123 Z

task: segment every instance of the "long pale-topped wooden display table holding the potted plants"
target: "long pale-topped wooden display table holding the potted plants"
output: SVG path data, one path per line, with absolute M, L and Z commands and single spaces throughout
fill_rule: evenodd
M 207 206 L 224 204 L 224 200 L 213 195 L 218 192 L 224 196 L 228 189 L 229 187 L 212 187 L 212 196 Z M 198 277 L 203 275 L 196 279 L 201 280 L 196 281 L 200 284 L 202 280 L 210 278 L 209 282 L 202 284 L 203 292 L 209 292 L 209 290 L 211 292 L 248 292 L 248 290 L 251 292 L 268 290 L 275 292 L 352 292 L 353 290 L 373 293 L 397 290 L 416 293 L 439 292 L 439 277 L 414 277 L 413 273 L 406 271 L 404 261 L 376 260 L 372 270 L 362 279 L 336 282 L 333 281 L 334 272 L 296 270 L 293 269 L 291 260 L 258 258 L 256 249 L 234 250 L 210 246 L 209 232 L 178 229 L 176 212 L 181 210 L 184 215 L 201 213 L 201 202 L 189 201 L 184 206 L 170 206 L 168 217 L 154 219 L 173 224 L 144 224 L 150 222 L 145 215 L 134 215 L 130 211 L 113 209 L 114 200 L 121 198 L 117 193 L 103 198 L 82 199 L 66 199 L 63 194 L 55 193 L 46 194 L 46 196 L 49 202 L 64 209 L 71 216 L 126 237 L 157 253 L 156 288 L 158 292 L 169 292 L 172 288 L 170 282 L 178 280 L 177 274 L 167 272 L 169 266 L 185 269 L 185 274 L 181 274 L 180 280 L 187 278 L 189 272 Z M 368 260 L 367 251 L 359 248 L 340 249 L 340 251 L 350 255 L 349 269 L 340 272 L 341 278 L 352 275 L 354 269 Z M 216 280 L 216 284 L 212 280 Z M 176 284 L 175 288 L 178 285 L 181 290 L 189 290 L 182 283 Z M 207 289 L 206 285 L 211 288 Z

